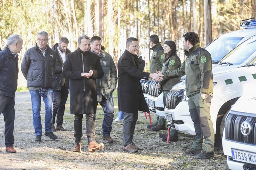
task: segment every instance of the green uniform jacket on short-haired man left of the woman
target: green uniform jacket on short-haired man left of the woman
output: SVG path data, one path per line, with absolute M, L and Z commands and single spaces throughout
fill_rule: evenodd
M 165 53 L 161 42 L 150 48 L 150 50 L 153 50 L 153 53 L 150 59 L 149 72 L 155 73 L 156 70 L 160 71 L 162 69 L 165 61 Z

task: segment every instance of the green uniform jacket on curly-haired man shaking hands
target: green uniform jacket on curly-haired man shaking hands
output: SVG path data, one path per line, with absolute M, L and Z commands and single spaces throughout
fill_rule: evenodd
M 208 93 L 213 96 L 212 85 L 212 57 L 205 49 L 200 47 L 200 43 L 195 44 L 188 51 L 189 56 L 174 71 L 164 73 L 165 77 L 181 77 L 186 74 L 186 94 L 187 97 L 196 93 Z

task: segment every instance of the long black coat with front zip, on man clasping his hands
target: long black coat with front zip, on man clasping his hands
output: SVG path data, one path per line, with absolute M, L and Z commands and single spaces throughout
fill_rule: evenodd
M 93 71 L 87 79 L 81 72 Z M 62 75 L 69 79 L 70 113 L 93 114 L 97 109 L 96 79 L 103 77 L 99 56 L 90 51 L 81 52 L 80 48 L 67 55 Z

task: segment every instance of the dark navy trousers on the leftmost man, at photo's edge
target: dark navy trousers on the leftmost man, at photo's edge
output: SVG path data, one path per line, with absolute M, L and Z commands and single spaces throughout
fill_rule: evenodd
M 0 94 L 0 114 L 3 113 L 3 120 L 5 121 L 5 146 L 9 147 L 14 144 L 14 97 L 3 96 Z

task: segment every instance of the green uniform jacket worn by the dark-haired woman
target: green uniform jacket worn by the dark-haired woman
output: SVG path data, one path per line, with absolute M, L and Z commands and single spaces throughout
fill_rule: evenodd
M 177 68 L 179 68 L 180 64 L 181 62 L 177 55 L 170 56 L 167 60 L 165 60 L 161 72 L 166 73 L 167 71 L 176 70 Z M 164 75 L 164 80 L 159 82 L 163 90 L 169 91 L 175 84 L 180 81 L 180 77 L 171 79 L 167 76 L 167 74 Z

